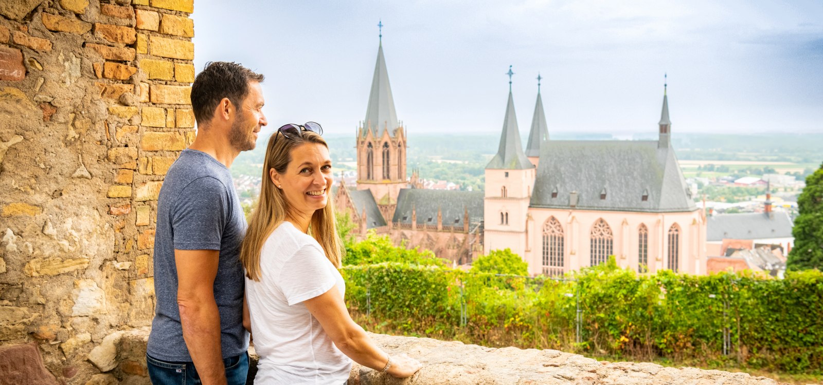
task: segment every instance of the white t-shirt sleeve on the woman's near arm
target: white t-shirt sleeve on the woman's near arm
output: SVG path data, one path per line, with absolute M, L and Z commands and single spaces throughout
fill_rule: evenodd
M 289 306 L 312 299 L 334 287 L 335 279 L 329 264 L 323 250 L 316 245 L 300 247 L 283 264 L 278 281 Z

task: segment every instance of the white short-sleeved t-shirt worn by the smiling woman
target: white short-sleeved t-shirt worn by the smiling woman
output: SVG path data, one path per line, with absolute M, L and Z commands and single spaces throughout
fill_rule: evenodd
M 246 278 L 254 350 L 260 355 L 254 383 L 341 384 L 351 360 L 303 304 L 346 283 L 311 236 L 283 222 L 260 253 L 260 282 Z

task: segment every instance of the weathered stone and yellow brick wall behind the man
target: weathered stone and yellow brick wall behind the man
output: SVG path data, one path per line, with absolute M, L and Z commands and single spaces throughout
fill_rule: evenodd
M 192 11 L 0 2 L 0 372 L 33 342 L 56 381 L 145 374 L 89 355 L 151 323 L 156 198 L 194 137 Z

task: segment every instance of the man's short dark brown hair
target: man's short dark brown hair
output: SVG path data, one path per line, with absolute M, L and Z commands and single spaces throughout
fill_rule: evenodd
M 265 76 L 235 62 L 207 62 L 192 85 L 192 109 L 198 125 L 214 117 L 223 98 L 239 108 L 249 94 L 249 81 L 262 83 Z

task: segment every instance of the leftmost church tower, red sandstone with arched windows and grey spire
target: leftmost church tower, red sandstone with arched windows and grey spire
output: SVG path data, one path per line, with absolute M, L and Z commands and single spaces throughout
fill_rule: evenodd
M 365 121 L 357 127 L 357 190 L 371 190 L 380 213 L 391 221 L 406 182 L 406 132 L 394 109 L 383 56 L 383 23 Z

